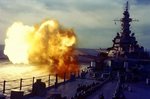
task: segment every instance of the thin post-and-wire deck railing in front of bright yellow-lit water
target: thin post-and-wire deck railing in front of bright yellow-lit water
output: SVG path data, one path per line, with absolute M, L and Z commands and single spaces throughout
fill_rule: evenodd
M 0 82 L 0 93 L 10 94 L 11 90 L 20 90 L 24 91 L 25 94 L 28 94 L 32 91 L 32 85 L 36 79 L 41 79 L 42 82 L 46 83 L 46 87 L 52 86 L 55 83 L 65 82 L 66 77 L 61 79 L 57 74 L 48 74 L 43 76 L 36 76 L 32 78 L 20 78 L 15 80 L 4 80 Z

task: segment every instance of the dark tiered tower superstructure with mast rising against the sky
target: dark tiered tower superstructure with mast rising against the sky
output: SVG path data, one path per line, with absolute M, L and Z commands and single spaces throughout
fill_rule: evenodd
M 115 21 L 121 22 L 121 31 L 113 39 L 113 47 L 109 55 L 113 57 L 144 58 L 144 47 L 138 44 L 135 33 L 132 33 L 130 29 L 130 23 L 138 20 L 130 18 L 128 2 L 123 12 L 123 18 Z

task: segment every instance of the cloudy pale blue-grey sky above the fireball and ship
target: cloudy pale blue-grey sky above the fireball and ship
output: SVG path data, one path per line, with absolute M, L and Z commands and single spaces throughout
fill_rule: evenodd
M 107 48 L 120 31 L 126 0 L 0 0 L 0 44 L 4 44 L 7 28 L 15 21 L 34 25 L 44 19 L 56 19 L 73 28 L 78 47 Z M 150 0 L 130 0 L 132 23 L 140 45 L 150 49 Z

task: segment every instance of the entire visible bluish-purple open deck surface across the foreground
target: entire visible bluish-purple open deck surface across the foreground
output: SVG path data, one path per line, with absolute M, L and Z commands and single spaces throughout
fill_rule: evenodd
M 77 93 L 77 88 L 79 85 L 91 85 L 92 83 L 99 83 L 101 87 L 92 91 L 86 99 L 99 99 L 100 95 L 103 94 L 104 99 L 112 99 L 117 90 L 117 80 L 113 81 L 97 81 L 94 79 L 76 79 L 73 81 L 67 81 L 66 83 L 61 83 L 57 87 L 47 88 L 47 94 L 43 97 L 38 96 L 28 96 L 25 99 L 49 99 L 52 94 L 61 94 L 62 97 L 67 97 L 71 99 Z M 146 85 L 145 82 L 137 83 L 126 83 L 130 90 L 123 89 L 125 99 L 149 99 L 150 97 L 150 85 Z M 76 98 L 74 98 L 76 99 Z M 77 98 L 78 99 L 78 98 Z

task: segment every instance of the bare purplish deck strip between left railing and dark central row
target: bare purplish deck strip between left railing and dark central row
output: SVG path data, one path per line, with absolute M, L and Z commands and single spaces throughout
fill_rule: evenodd
M 59 85 L 58 87 L 48 88 L 47 95 L 44 97 L 31 97 L 27 99 L 45 99 L 49 97 L 51 94 L 61 94 L 62 97 L 66 96 L 67 99 L 73 97 L 76 93 L 77 87 L 79 84 L 82 85 L 90 85 L 93 82 L 99 82 L 91 79 L 76 79 L 75 81 L 69 81 L 64 84 Z

